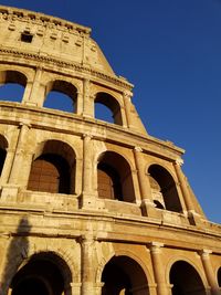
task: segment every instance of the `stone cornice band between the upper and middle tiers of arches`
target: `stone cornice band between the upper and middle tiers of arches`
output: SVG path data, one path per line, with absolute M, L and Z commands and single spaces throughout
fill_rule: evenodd
M 32 113 L 35 113 L 39 116 L 41 116 L 40 120 L 38 120 L 38 122 L 35 120 L 35 122 L 31 123 L 32 127 L 39 128 L 39 129 L 81 135 L 81 133 L 77 134 L 76 131 L 74 131 L 73 128 L 67 128 L 67 127 L 64 128 L 63 125 L 62 125 L 62 127 L 60 126 L 60 128 L 59 128 L 57 126 L 54 126 L 54 124 L 50 124 L 49 122 L 45 123 L 43 120 L 44 114 L 46 116 L 50 115 L 50 117 L 52 117 L 53 119 L 55 117 L 60 117 L 60 119 L 64 119 L 65 126 L 67 126 L 66 125 L 67 122 L 70 122 L 70 124 L 72 124 L 72 122 L 78 123 L 78 124 L 84 124 L 85 127 L 87 126 L 87 128 L 91 128 L 91 125 L 93 125 L 93 126 L 95 125 L 94 118 L 83 118 L 82 119 L 81 116 L 64 113 L 61 110 L 55 110 L 55 109 L 50 110 L 48 108 L 30 107 L 30 106 L 25 106 L 25 105 L 22 105 L 19 103 L 0 102 L 0 108 L 2 110 L 3 110 L 3 108 L 4 109 L 9 108 L 9 113 L 10 113 L 11 107 L 13 108 L 13 112 L 17 112 L 17 110 L 18 112 L 32 112 Z M 7 117 L 2 118 L 1 117 L 0 123 L 12 124 L 12 125 L 19 124 L 19 122 L 14 122 L 11 119 L 10 114 L 9 114 L 9 118 L 7 118 Z M 97 127 L 99 127 L 101 134 L 96 129 L 96 134 L 92 134 L 92 135 L 97 140 L 104 139 L 106 141 L 113 143 L 113 144 L 127 146 L 128 148 L 131 148 L 131 149 L 134 149 L 135 146 L 139 145 L 144 152 L 151 154 L 151 155 L 155 155 L 158 157 L 160 156 L 160 157 L 166 158 L 168 160 L 176 160 L 178 156 L 182 156 L 182 154 L 185 152 L 183 149 L 176 147 L 171 143 L 167 143 L 167 141 L 157 139 L 152 136 L 145 137 L 141 134 L 139 135 L 137 133 L 133 133 L 131 130 L 125 129 L 118 125 L 107 124 L 107 123 L 97 122 L 97 120 L 96 120 L 96 125 L 97 125 Z M 105 130 L 104 137 L 103 137 L 103 130 Z M 109 131 L 109 136 L 107 136 L 107 131 Z M 126 140 L 128 135 L 130 136 L 130 139 L 131 139 L 130 144 Z M 122 140 L 123 138 L 124 138 L 124 140 Z

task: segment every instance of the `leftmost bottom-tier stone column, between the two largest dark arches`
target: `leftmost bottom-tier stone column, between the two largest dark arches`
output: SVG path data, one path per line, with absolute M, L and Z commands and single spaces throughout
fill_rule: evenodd
M 94 284 L 94 238 L 91 234 L 82 236 L 82 293 L 81 295 L 96 295 Z

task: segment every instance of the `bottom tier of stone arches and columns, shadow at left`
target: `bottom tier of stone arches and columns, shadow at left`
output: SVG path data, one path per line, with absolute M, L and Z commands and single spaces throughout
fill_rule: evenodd
M 221 253 L 31 232 L 23 218 L 17 234 L 0 239 L 2 295 L 221 294 Z

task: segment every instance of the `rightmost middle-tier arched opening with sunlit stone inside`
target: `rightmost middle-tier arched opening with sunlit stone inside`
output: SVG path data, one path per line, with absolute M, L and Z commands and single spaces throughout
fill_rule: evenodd
M 156 208 L 181 212 L 180 199 L 171 175 L 159 165 L 151 165 L 148 175 Z

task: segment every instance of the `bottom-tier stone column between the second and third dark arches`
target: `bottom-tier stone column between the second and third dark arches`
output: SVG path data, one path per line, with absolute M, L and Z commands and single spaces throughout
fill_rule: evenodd
M 164 244 L 152 242 L 150 244 L 150 255 L 154 268 L 155 281 L 157 283 L 157 295 L 169 295 L 169 288 L 165 282 L 165 268 L 161 263 L 161 247 Z

